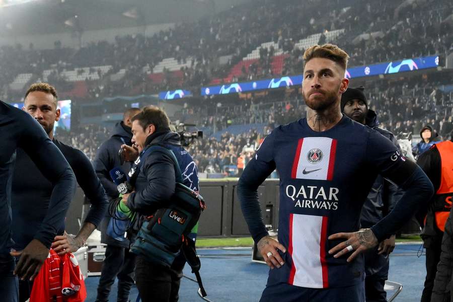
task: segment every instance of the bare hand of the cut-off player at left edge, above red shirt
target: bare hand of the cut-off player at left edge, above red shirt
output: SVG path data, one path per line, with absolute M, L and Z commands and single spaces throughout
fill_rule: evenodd
M 24 250 L 14 251 L 10 254 L 14 257 L 21 257 L 14 274 L 22 280 L 30 279 L 32 281 L 49 255 L 49 249 L 39 240 L 33 239 Z

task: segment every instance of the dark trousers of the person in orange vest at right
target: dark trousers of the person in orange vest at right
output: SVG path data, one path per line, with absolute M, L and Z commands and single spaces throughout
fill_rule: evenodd
M 423 236 L 423 244 L 426 249 L 426 279 L 421 302 L 431 301 L 432 287 L 437 272 L 437 264 L 440 260 L 443 232 L 438 231 L 437 236 Z

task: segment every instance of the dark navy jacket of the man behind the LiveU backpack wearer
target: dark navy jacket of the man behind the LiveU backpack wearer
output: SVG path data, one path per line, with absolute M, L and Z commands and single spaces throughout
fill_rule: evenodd
M 122 144 L 131 145 L 132 132 L 129 127 L 124 125 L 123 122 L 117 123 L 113 131 L 113 135 L 107 139 L 98 149 L 96 158 L 94 160 L 94 167 L 96 174 L 98 175 L 101 183 L 107 193 L 109 201 L 117 198 L 119 196 L 118 190 L 115 183 L 110 178 L 110 170 L 115 167 L 121 168 L 124 173 L 128 173 L 132 167 L 132 163 L 124 162 L 122 163 L 118 151 Z M 109 245 L 120 246 L 120 247 L 129 247 L 129 241 L 125 240 L 119 242 L 112 239 L 106 234 L 107 226 L 110 221 L 110 215 L 107 211 L 104 219 L 99 225 L 99 231 L 101 231 L 101 242 Z

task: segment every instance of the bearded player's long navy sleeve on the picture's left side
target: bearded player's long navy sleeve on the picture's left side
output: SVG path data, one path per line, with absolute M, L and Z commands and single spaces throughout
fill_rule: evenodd
M 255 242 L 269 235 L 263 222 L 257 190 L 275 170 L 274 139 L 275 130 L 265 137 L 255 157 L 245 167 L 237 187 L 242 212 Z

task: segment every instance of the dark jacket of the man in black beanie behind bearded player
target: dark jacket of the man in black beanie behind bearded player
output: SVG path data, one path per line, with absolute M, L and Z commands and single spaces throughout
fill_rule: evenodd
M 365 124 L 390 139 L 400 148 L 393 133 L 379 127 L 378 116 L 374 111 L 368 109 Z M 378 223 L 393 209 L 403 194 L 404 192 L 397 186 L 378 175 L 362 207 L 361 227 L 371 228 Z M 366 276 L 386 279 L 389 272 L 389 257 L 378 255 L 377 248 L 365 252 L 365 272 Z

